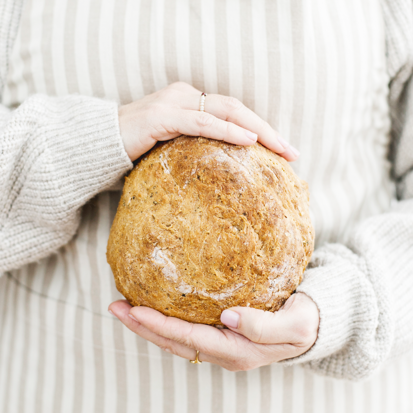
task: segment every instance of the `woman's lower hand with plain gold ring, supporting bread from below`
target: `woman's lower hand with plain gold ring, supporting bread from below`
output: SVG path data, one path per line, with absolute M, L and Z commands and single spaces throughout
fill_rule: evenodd
M 115 301 L 109 311 L 123 324 L 161 349 L 188 360 L 209 361 L 227 370 L 250 370 L 299 356 L 314 344 L 320 318 L 314 301 L 292 294 L 275 313 L 249 307 L 224 310 L 218 330 L 167 317 L 148 307 Z

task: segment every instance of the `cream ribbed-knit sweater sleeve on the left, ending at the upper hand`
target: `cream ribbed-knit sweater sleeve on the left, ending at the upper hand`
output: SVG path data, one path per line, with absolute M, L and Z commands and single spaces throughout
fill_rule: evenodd
M 66 244 L 83 204 L 131 167 L 114 102 L 34 95 L 0 107 L 0 273 Z

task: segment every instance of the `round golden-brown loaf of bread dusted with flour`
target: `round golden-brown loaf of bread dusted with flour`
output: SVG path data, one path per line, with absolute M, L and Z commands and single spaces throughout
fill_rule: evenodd
M 107 260 L 133 306 L 222 327 L 232 306 L 276 311 L 313 252 L 308 185 L 259 143 L 158 143 L 128 177 Z

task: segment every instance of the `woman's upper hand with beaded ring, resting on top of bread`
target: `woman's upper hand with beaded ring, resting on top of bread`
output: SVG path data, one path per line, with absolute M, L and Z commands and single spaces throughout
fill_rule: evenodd
M 126 153 L 132 161 L 157 141 L 180 135 L 204 136 L 236 145 L 257 141 L 287 161 L 299 152 L 239 100 L 208 95 L 205 112 L 199 112 L 201 92 L 188 83 L 172 83 L 158 92 L 119 107 L 119 127 Z

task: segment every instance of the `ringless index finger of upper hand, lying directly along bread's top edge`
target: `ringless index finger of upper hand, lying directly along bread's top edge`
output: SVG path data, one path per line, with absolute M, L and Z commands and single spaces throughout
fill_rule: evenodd
M 255 133 L 206 112 L 171 109 L 168 114 L 165 114 L 164 119 L 164 128 L 168 133 L 153 136 L 157 140 L 168 140 L 171 135 L 190 135 L 243 146 L 252 145 L 257 140 Z

